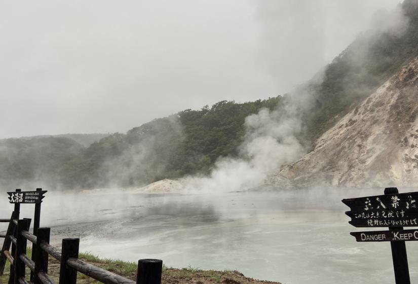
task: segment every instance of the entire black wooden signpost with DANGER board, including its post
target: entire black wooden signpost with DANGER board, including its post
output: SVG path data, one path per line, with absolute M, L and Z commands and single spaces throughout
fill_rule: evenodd
M 354 227 L 389 227 L 389 231 L 351 232 L 359 242 L 390 241 L 396 284 L 410 284 L 405 241 L 418 240 L 418 192 L 399 193 L 385 188 L 385 195 L 343 199 Z

